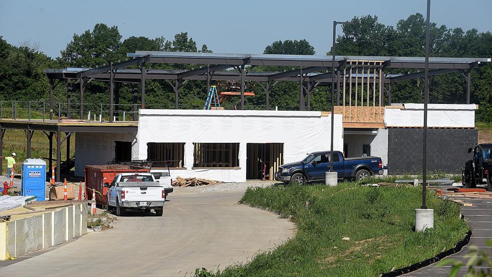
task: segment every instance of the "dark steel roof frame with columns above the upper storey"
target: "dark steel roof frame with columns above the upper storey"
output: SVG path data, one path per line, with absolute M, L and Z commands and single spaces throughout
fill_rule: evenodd
M 270 55 L 270 54 L 216 54 L 216 53 L 188 53 L 188 52 L 155 52 L 136 51 L 128 53 L 131 59 L 98 68 L 67 68 L 47 69 L 45 74 L 50 79 L 50 110 L 52 110 L 53 90 L 58 84 L 56 80 L 65 80 L 67 86 L 71 80 L 77 80 L 80 86 L 80 102 L 83 106 L 84 90 L 86 84 L 91 80 L 107 81 L 110 87 L 110 122 L 113 120 L 114 91 L 113 82 L 127 82 L 141 84 L 141 108 L 145 108 L 145 80 L 163 79 L 167 80 L 175 92 L 175 109 L 179 105 L 179 89 L 187 80 L 205 80 L 207 89 L 210 89 L 212 80 L 237 80 L 241 81 L 241 109 L 244 109 L 244 82 L 264 82 L 261 87 L 265 90 L 265 109 L 269 106 L 269 94 L 274 82 L 297 81 L 299 82 L 299 109 L 305 108 L 305 96 L 308 97 L 308 110 L 311 102 L 312 89 L 317 86 L 326 86 L 332 81 L 332 72 L 327 72 L 332 66 L 335 67 L 335 80 L 337 86 L 337 105 L 340 104 L 340 83 L 343 79 L 348 83 L 362 83 L 357 76 L 347 79 L 340 78 L 340 73 L 346 71 L 350 61 L 366 61 L 368 63 L 379 62 L 378 69 L 381 74 L 376 73 L 373 79 L 384 86 L 383 94 L 386 92 L 388 104 L 391 104 L 391 84 L 394 82 L 423 78 L 423 72 L 411 74 L 387 74 L 385 69 L 424 69 L 424 57 L 381 57 L 381 56 L 335 56 L 318 55 Z M 470 71 L 477 68 L 482 62 L 490 62 L 490 58 L 443 58 L 429 59 L 429 76 L 461 72 L 466 79 L 466 102 L 470 101 Z M 147 63 L 174 63 L 181 65 L 201 65 L 193 70 L 152 70 L 147 69 Z M 138 66 L 139 69 L 126 69 L 130 66 Z M 298 67 L 284 72 L 255 72 L 250 69 L 256 66 L 290 66 Z M 232 69 L 224 71 L 226 69 Z M 323 72 L 324 71 L 324 72 Z M 349 70 L 351 71 L 351 70 Z M 352 75 L 351 75 L 352 76 Z M 363 79 L 363 78 L 361 78 Z M 381 80 L 379 80 L 381 79 Z M 386 85 L 387 84 L 387 88 Z M 135 91 L 134 91 L 135 93 Z M 383 96 L 384 97 L 384 96 Z M 67 99 L 69 102 L 69 99 Z M 134 103 L 136 104 L 136 97 Z M 80 108 L 80 118 L 83 117 L 83 108 Z M 52 119 L 52 116 L 50 117 Z

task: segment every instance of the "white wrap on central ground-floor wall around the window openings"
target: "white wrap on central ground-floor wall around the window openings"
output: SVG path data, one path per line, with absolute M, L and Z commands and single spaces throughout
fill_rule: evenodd
M 330 149 L 330 119 L 321 112 L 140 110 L 134 158 L 147 159 L 149 142 L 184 142 L 186 169 L 172 169 L 173 179 L 243 182 L 247 143 L 283 143 L 284 162 L 299 161 L 306 153 Z M 192 169 L 194 142 L 239 143 L 239 168 Z M 342 115 L 335 115 L 334 150 L 343 150 Z

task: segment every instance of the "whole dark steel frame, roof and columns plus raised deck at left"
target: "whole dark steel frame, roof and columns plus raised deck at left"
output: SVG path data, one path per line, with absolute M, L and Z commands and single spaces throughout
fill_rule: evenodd
M 46 69 L 44 73 L 49 78 L 50 84 L 50 120 L 12 120 L 0 119 L 0 150 L 3 148 L 3 137 L 7 129 L 24 130 L 27 138 L 28 157 L 31 151 L 31 138 L 35 131 L 41 131 L 50 142 L 50 160 L 51 164 L 53 154 L 53 138 L 56 139 L 57 164 L 61 164 L 61 145 L 67 144 L 67 157 L 70 150 L 70 135 L 74 132 L 110 132 L 110 133 L 136 133 L 137 123 L 112 123 L 115 112 L 114 102 L 118 101 L 118 84 L 121 82 L 132 83 L 133 92 L 133 120 L 136 121 L 136 112 L 138 110 L 138 88 L 136 84 L 140 83 L 140 108 L 145 108 L 145 82 L 147 79 L 166 80 L 173 88 L 175 93 L 175 109 L 179 104 L 179 89 L 189 80 L 204 80 L 207 82 L 207 88 L 210 89 L 211 81 L 215 80 L 235 80 L 241 83 L 241 100 L 240 108 L 244 109 L 244 82 L 257 82 L 265 91 L 265 109 L 269 107 L 269 95 L 273 86 L 279 81 L 299 82 L 299 108 L 305 110 L 305 96 L 307 96 L 307 109 L 311 107 L 311 93 L 315 87 L 329 85 L 332 78 L 330 68 L 335 67 L 335 79 L 337 82 L 337 105 L 340 104 L 340 94 L 343 92 L 343 103 L 345 106 L 345 89 L 346 83 L 350 85 L 348 95 L 352 91 L 352 83 L 364 86 L 372 78 L 374 86 L 379 84 L 379 106 L 384 105 L 384 98 L 387 103 L 391 104 L 392 84 L 399 81 L 423 78 L 424 72 L 410 74 L 388 74 L 385 71 L 391 69 L 424 69 L 424 57 L 371 57 L 371 56 L 335 56 L 332 61 L 331 56 L 317 55 L 253 55 L 253 54 L 216 54 L 216 53 L 182 53 L 182 52 L 149 52 L 136 51 L 129 53 L 130 58 L 121 62 L 110 62 L 109 65 L 96 68 L 67 68 L 67 69 Z M 359 63 L 354 67 L 354 61 L 374 63 L 374 73 L 368 72 L 359 74 Z M 451 72 L 461 72 L 467 82 L 466 102 L 470 102 L 470 81 L 471 70 L 477 68 L 483 62 L 490 62 L 490 58 L 429 58 L 428 76 L 446 74 Z M 156 70 L 147 67 L 152 63 L 174 63 L 185 65 L 200 65 L 193 70 Z M 377 66 L 376 66 L 377 65 Z M 285 66 L 295 67 L 289 71 L 283 72 L 257 72 L 251 69 L 256 66 Z M 129 69 L 128 67 L 138 67 Z M 376 70 L 377 69 L 377 70 Z M 84 92 L 87 84 L 91 81 L 109 82 L 110 93 L 110 123 L 86 123 L 86 122 L 59 122 L 53 120 L 53 92 L 58 84 L 65 82 L 67 88 L 67 119 L 70 119 L 70 98 L 74 91 L 72 84 L 78 83 L 80 92 L 80 120 L 84 118 Z M 342 89 L 340 85 L 342 84 Z M 116 87 L 116 88 L 115 88 Z M 116 94 L 115 94 L 116 92 Z M 357 92 L 357 91 L 356 91 Z M 366 92 L 368 92 L 366 90 Z M 375 93 L 375 87 L 373 87 Z M 381 97 L 382 94 L 382 97 Z M 384 96 L 384 94 L 386 96 Z M 367 98 L 366 98 L 367 99 Z M 373 96 L 373 102 L 375 101 Z M 355 99 L 354 99 L 355 100 Z M 349 98 L 349 106 L 352 98 Z M 117 106 L 116 106 L 117 109 Z M 345 111 L 345 109 L 343 110 Z M 349 112 L 351 109 L 349 110 Z M 117 112 L 117 110 L 116 110 Z M 61 135 L 65 133 L 64 139 Z M 1 165 L 1 161 L 0 161 Z M 56 180 L 60 181 L 60 171 L 57 171 Z

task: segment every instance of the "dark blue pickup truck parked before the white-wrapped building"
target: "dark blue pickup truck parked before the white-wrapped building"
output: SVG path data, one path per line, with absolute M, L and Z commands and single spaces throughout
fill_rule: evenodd
M 379 157 L 344 158 L 339 151 L 333 154 L 333 170 L 338 173 L 338 179 L 362 180 L 371 175 L 381 175 L 384 169 L 388 169 Z M 330 151 L 313 152 L 302 161 L 282 164 L 275 173 L 275 179 L 299 184 L 324 182 L 325 173 L 330 171 L 330 156 Z

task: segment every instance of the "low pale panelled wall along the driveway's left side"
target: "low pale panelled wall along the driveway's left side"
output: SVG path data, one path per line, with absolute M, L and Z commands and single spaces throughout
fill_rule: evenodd
M 0 260 L 48 248 L 87 233 L 87 205 L 75 204 L 28 218 L 0 222 Z

